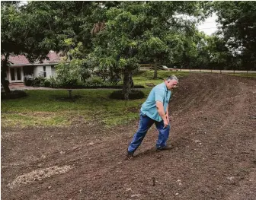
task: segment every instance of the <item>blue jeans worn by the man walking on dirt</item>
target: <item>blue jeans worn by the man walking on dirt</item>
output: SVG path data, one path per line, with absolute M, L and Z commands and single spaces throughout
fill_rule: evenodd
M 136 134 L 133 136 L 133 141 L 130 143 L 128 147 L 129 152 L 136 151 L 137 148 L 139 148 L 139 145 L 142 143 L 143 138 L 145 137 L 146 133 L 148 132 L 149 128 L 155 123 L 156 129 L 158 129 L 159 135 L 158 140 L 156 141 L 156 148 L 163 148 L 166 146 L 166 141 L 169 137 L 170 132 L 170 125 L 164 128 L 165 124 L 162 120 L 161 122 L 157 122 L 145 114 L 141 113 L 139 114 L 139 129 L 136 132 Z

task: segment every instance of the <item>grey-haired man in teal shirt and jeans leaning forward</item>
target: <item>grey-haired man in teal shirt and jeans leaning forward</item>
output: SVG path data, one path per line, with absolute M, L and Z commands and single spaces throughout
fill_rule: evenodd
M 156 129 L 159 132 L 155 146 L 156 149 L 161 151 L 171 148 L 166 144 L 171 129 L 169 125 L 168 103 L 171 97 L 171 89 L 177 87 L 177 84 L 178 78 L 171 75 L 162 84 L 156 85 L 151 90 L 149 97 L 140 109 L 139 129 L 128 147 L 128 158 L 133 157 L 134 152 L 139 148 L 153 123 L 155 123 Z

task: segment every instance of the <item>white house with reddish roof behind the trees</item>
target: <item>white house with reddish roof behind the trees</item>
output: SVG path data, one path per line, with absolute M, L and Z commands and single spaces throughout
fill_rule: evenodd
M 34 78 L 43 76 L 50 78 L 56 76 L 55 65 L 60 62 L 60 57 L 56 52 L 50 51 L 48 54 L 49 60 L 43 60 L 43 63 L 30 63 L 25 56 L 10 56 L 6 78 L 10 84 L 24 84 L 25 76 L 32 76 Z

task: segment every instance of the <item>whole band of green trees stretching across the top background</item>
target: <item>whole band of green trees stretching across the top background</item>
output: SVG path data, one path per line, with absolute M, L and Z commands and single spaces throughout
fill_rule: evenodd
M 73 77 L 91 69 L 123 74 L 129 97 L 139 63 L 178 68 L 255 69 L 255 2 L 1 2 L 2 85 L 8 58 L 34 62 L 50 50 L 71 62 Z M 197 29 L 212 12 L 222 27 L 213 36 Z M 189 16 L 189 17 L 185 17 Z M 59 65 L 59 75 L 66 78 Z M 63 72 L 64 71 L 64 72 Z M 66 70 L 70 71 L 70 70 Z M 67 72 L 68 73 L 68 72 Z

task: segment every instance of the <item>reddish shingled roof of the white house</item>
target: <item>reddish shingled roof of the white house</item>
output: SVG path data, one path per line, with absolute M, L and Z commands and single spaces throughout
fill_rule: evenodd
M 28 61 L 26 56 L 23 56 L 23 55 L 10 56 L 9 61 L 12 63 L 11 65 L 50 64 L 50 63 L 57 63 L 60 61 L 60 57 L 58 56 L 58 54 L 56 52 L 50 51 L 47 56 L 49 57 L 49 60 L 44 59 L 43 63 L 40 63 L 38 61 L 31 63 Z

